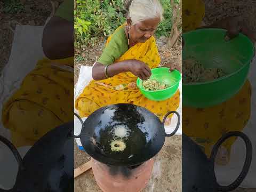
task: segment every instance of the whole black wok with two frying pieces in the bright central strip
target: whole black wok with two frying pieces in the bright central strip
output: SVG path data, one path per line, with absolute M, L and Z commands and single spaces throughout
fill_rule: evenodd
M 178 123 L 171 134 L 165 133 L 164 122 L 170 114 L 178 116 Z M 114 166 L 134 166 L 154 157 L 163 147 L 165 137 L 171 137 L 180 125 L 180 115 L 170 111 L 163 119 L 149 110 L 132 104 L 116 104 L 94 111 L 82 123 L 80 138 L 86 153 L 99 162 Z M 111 150 L 111 142 L 116 140 L 117 127 L 125 127 L 127 137 L 123 151 Z M 120 138 L 117 138 L 117 140 Z M 122 138 L 123 139 L 123 138 Z

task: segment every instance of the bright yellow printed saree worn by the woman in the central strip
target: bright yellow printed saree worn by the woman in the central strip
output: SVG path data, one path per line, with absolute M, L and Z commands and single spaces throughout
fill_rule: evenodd
M 107 44 L 110 40 L 111 36 L 108 38 Z M 129 59 L 142 61 L 151 69 L 158 67 L 161 59 L 157 51 L 155 38 L 151 37 L 145 43 L 137 43 L 115 62 Z M 129 72 L 102 81 L 91 81 L 75 101 L 75 107 L 79 111 L 79 115 L 82 117 L 89 116 L 100 107 L 116 103 L 133 103 L 145 107 L 160 119 L 163 119 L 168 111 L 177 110 L 180 102 L 179 91 L 168 100 L 151 101 L 141 94 L 137 88 L 136 80 L 137 77 Z M 170 118 L 171 115 L 169 121 Z

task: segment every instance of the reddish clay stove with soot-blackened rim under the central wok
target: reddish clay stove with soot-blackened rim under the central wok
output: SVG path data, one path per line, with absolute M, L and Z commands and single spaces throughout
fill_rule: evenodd
M 131 167 L 108 166 L 92 159 L 94 178 L 103 192 L 139 192 L 146 187 L 154 158 Z

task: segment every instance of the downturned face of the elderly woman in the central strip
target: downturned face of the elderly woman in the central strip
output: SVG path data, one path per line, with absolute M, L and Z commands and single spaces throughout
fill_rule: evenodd
M 127 20 L 128 25 L 131 26 L 132 40 L 137 43 L 145 43 L 155 33 L 160 21 L 160 18 L 147 19 L 131 26 L 131 20 Z

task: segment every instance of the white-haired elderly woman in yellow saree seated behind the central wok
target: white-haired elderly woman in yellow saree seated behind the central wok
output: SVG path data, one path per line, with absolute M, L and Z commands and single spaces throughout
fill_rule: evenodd
M 179 106 L 179 91 L 165 101 L 145 98 L 136 86 L 137 78 L 151 75 L 161 61 L 154 32 L 163 18 L 163 9 L 157 0 L 134 0 L 127 23 L 116 29 L 106 43 L 101 57 L 92 69 L 93 81 L 76 99 L 75 107 L 82 117 L 100 107 L 115 103 L 133 103 L 147 108 L 160 119 L 167 111 Z M 169 66 L 171 67 L 171 66 Z M 169 123 L 170 123 L 169 117 Z

